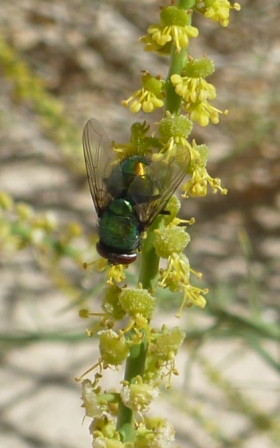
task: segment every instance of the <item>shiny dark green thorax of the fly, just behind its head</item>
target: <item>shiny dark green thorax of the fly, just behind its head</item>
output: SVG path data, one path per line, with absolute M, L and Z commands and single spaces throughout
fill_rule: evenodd
M 129 254 L 140 246 L 140 223 L 131 203 L 114 199 L 99 220 L 101 245 L 112 252 Z

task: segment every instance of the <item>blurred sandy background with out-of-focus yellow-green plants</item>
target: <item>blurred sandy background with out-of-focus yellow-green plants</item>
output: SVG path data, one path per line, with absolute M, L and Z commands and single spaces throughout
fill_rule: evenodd
M 152 0 L 22 0 L 0 3 L 0 445 L 86 448 L 81 375 L 98 358 L 93 325 L 103 275 L 81 134 L 98 118 L 125 142 L 135 119 L 121 106 L 141 70 L 166 76 L 167 60 L 138 39 L 158 20 Z M 280 5 L 240 1 L 222 28 L 195 17 L 190 53 L 214 60 L 219 125 L 195 126 L 210 148 L 208 171 L 227 196 L 183 202 L 196 219 L 187 248 L 204 310 L 173 317 L 180 298 L 163 294 L 155 325 L 187 333 L 173 388 L 151 412 L 175 425 L 174 447 L 280 446 Z M 160 117 L 160 115 L 159 115 Z M 7 195 L 6 195 L 7 194 Z M 128 281 L 137 266 L 131 266 Z M 116 384 L 108 375 L 108 387 Z M 121 374 L 120 374 L 121 378 Z

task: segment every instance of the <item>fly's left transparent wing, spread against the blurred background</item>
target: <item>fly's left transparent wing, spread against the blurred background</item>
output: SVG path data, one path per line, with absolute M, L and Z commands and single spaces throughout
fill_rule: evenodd
M 108 179 L 110 179 L 116 155 L 112 149 L 111 140 L 95 118 L 91 118 L 85 125 L 83 149 L 91 197 L 97 215 L 100 216 L 112 200 Z

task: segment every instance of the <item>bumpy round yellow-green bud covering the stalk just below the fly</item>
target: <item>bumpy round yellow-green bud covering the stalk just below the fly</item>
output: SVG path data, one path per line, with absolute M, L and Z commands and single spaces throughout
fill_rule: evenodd
M 129 316 L 141 314 L 150 319 L 156 306 L 156 298 L 147 289 L 126 288 L 120 294 L 120 303 Z

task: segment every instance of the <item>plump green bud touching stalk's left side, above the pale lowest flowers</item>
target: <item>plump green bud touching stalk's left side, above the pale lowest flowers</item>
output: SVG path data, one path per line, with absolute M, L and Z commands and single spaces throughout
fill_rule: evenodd
M 99 351 L 104 363 L 118 366 L 128 357 L 129 342 L 113 330 L 99 333 Z

